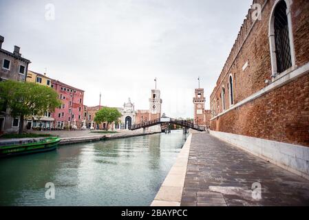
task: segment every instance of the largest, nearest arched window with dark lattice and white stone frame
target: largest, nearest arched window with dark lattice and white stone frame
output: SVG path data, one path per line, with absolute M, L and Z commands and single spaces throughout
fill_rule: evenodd
M 290 0 L 277 0 L 269 27 L 270 56 L 273 76 L 295 65 Z

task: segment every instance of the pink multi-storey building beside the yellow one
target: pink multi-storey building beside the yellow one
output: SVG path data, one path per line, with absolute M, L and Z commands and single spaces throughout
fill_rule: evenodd
M 52 113 L 54 118 L 54 128 L 70 128 L 76 121 L 76 126 L 81 129 L 84 120 L 84 92 L 82 89 L 76 89 L 58 80 L 52 80 L 52 88 L 58 93 L 58 98 L 62 104 L 60 108 Z

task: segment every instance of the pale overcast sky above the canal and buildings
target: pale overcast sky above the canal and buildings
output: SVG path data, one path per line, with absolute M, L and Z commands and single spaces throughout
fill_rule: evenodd
M 85 90 L 84 104 L 149 109 L 154 78 L 162 113 L 193 118 L 194 89 L 209 97 L 252 0 L 0 0 L 2 48 L 29 69 Z

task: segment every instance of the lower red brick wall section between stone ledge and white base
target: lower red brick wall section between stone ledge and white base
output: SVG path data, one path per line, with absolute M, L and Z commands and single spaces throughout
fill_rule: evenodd
M 211 130 L 309 146 L 309 74 L 212 120 Z

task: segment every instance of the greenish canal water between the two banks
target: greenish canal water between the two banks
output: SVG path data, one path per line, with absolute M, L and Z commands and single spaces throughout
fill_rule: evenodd
M 186 138 L 175 131 L 1 159 L 0 205 L 149 206 Z M 55 199 L 45 198 L 47 182 Z

